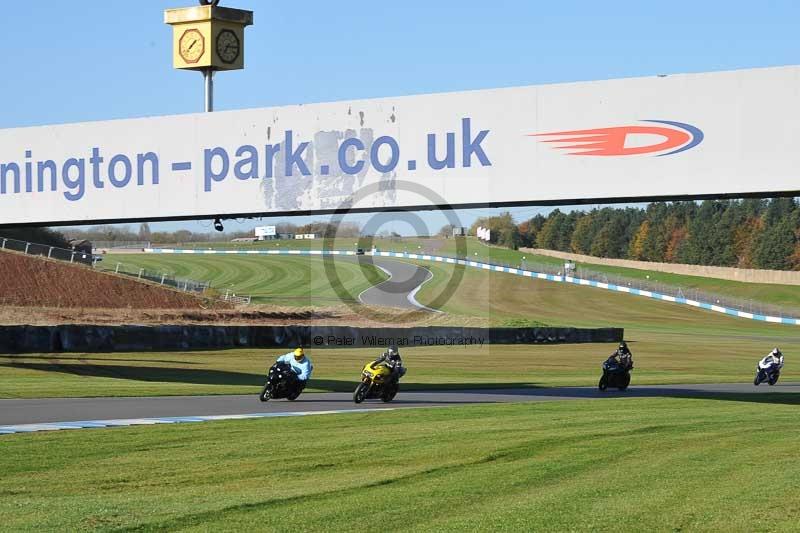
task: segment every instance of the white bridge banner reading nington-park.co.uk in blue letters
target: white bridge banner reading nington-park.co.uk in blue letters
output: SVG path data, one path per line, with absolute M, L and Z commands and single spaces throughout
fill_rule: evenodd
M 800 67 L 0 130 L 0 225 L 800 190 Z

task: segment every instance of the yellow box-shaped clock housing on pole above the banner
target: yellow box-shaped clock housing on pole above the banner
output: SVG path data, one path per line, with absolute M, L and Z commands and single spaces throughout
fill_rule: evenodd
M 244 68 L 244 29 L 253 12 L 213 5 L 167 9 L 172 26 L 172 66 L 189 70 Z

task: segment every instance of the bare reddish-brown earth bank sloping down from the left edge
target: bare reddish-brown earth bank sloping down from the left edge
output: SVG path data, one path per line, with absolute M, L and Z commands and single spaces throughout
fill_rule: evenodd
M 199 310 L 208 302 L 82 265 L 5 251 L 0 252 L 0 306 Z

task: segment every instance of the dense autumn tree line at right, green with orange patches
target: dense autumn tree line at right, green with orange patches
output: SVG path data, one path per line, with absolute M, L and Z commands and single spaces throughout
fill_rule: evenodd
M 515 224 L 479 219 L 509 248 L 665 263 L 800 270 L 800 205 L 794 198 L 655 202 L 646 208 L 555 209 Z

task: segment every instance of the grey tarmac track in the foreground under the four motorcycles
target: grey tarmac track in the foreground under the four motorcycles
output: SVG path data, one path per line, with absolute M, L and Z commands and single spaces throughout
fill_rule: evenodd
M 354 385 L 355 386 L 355 385 Z M 644 385 L 627 391 L 600 392 L 596 387 L 553 387 L 524 389 L 474 389 L 447 391 L 400 391 L 385 404 L 380 400 L 353 403 L 350 393 L 307 393 L 298 400 L 270 400 L 262 403 L 257 394 L 231 396 L 162 396 L 149 398 L 52 398 L 0 400 L 0 426 L 81 420 L 236 415 L 248 413 L 320 412 L 364 408 L 437 407 L 468 404 L 539 402 L 601 398 L 709 398 L 754 402 L 770 401 L 767 393 L 800 393 L 800 383 L 779 383 L 774 387 L 752 383 L 702 385 Z

